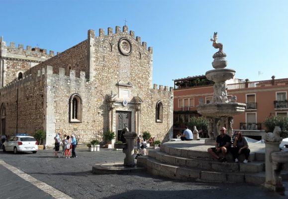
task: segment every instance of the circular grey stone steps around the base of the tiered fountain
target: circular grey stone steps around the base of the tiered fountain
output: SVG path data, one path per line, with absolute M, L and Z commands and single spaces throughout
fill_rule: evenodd
M 251 144 L 249 163 L 221 163 L 207 152 L 211 146 L 201 141 L 168 142 L 160 148 L 149 150 L 149 156 L 137 158 L 137 165 L 147 168 L 152 175 L 193 182 L 236 182 L 262 185 L 265 182 L 265 148 Z M 288 180 L 288 171 L 282 171 L 282 179 Z

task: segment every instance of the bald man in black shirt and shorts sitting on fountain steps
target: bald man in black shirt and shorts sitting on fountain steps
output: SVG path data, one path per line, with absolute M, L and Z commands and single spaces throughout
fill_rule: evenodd
M 220 128 L 220 135 L 217 136 L 215 147 L 208 148 L 208 153 L 221 162 L 227 162 L 226 154 L 231 149 L 231 137 L 226 134 L 226 128 Z M 222 152 L 223 158 L 217 155 Z

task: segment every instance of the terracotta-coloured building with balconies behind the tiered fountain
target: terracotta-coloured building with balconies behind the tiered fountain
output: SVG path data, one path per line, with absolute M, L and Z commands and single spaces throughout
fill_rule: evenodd
M 199 116 L 196 106 L 199 100 L 209 103 L 213 97 L 213 83 L 194 85 L 189 82 L 204 82 L 205 76 L 174 80 L 174 136 L 190 121 L 191 116 Z M 246 103 L 245 112 L 235 115 L 233 129 L 245 135 L 261 139 L 265 132 L 263 122 L 268 116 L 288 116 L 288 79 L 264 80 L 257 82 L 238 81 L 227 84 L 228 99 L 237 97 L 237 102 Z

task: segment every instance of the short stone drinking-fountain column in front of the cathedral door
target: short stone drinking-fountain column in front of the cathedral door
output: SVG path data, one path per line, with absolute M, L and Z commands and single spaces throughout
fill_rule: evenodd
M 124 158 L 124 166 L 134 167 L 134 143 L 137 134 L 135 132 L 128 132 L 125 133 L 123 136 L 126 139 L 126 147 L 123 149 L 123 153 L 126 154 Z

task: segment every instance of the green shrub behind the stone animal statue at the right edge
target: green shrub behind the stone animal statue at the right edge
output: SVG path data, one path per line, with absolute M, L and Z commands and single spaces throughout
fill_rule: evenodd
M 275 126 L 279 126 L 282 130 L 281 137 L 288 137 L 288 118 L 282 116 L 269 116 L 263 122 L 268 132 L 273 132 Z

